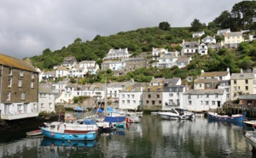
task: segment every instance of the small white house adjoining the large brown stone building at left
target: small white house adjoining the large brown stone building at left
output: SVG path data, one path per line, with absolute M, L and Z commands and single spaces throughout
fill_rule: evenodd
M 55 94 L 46 84 L 40 84 L 38 87 L 38 111 L 55 111 Z

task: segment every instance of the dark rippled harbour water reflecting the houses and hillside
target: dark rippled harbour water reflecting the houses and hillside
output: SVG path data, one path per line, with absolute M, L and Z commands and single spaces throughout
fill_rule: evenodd
M 254 157 L 244 130 L 242 123 L 200 117 L 167 121 L 143 115 L 141 123 L 102 133 L 90 142 L 27 138 L 22 132 L 2 134 L 0 157 Z

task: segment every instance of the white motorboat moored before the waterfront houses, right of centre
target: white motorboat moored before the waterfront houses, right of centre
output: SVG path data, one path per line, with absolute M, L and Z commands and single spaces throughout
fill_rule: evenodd
M 182 120 L 188 120 L 193 117 L 193 113 L 183 109 L 171 109 L 166 112 L 159 112 L 158 115 L 160 115 L 161 117 L 163 116 L 170 117 L 170 119 L 182 119 Z

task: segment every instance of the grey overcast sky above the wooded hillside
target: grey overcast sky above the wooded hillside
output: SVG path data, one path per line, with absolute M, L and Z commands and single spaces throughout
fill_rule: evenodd
M 158 26 L 208 24 L 241 0 L 1 0 L 0 54 L 40 55 L 96 35 Z

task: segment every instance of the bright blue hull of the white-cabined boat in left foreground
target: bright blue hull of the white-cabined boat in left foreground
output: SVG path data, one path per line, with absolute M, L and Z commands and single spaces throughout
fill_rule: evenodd
M 41 127 L 42 133 L 46 138 L 60 139 L 60 140 L 94 140 L 96 139 L 96 132 L 89 133 L 55 133 L 49 130 L 49 127 Z

